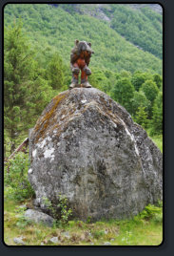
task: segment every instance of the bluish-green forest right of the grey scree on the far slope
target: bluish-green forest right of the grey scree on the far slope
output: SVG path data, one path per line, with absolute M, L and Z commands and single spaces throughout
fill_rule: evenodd
M 111 28 L 138 48 L 162 58 L 162 15 L 149 8 L 133 10 L 128 5 L 113 5 Z

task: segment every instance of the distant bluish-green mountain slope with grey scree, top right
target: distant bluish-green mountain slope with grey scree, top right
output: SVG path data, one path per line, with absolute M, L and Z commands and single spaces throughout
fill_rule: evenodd
M 64 5 L 62 8 L 69 13 L 78 12 L 106 20 L 111 29 L 120 33 L 137 48 L 162 58 L 162 14 L 152 10 L 148 4 L 144 7 L 137 5 L 136 9 L 133 6 L 131 4 L 71 4 Z

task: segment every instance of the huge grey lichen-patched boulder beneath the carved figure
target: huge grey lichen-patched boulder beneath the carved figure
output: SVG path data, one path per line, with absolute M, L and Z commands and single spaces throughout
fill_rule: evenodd
M 145 130 L 105 93 L 75 88 L 55 96 L 29 134 L 36 204 L 68 198 L 81 220 L 128 218 L 163 195 L 163 158 Z

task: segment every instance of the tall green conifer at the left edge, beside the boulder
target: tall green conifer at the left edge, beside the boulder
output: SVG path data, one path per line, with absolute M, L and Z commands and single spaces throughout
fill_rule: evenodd
M 19 136 L 28 132 L 35 117 L 41 114 L 52 97 L 47 81 L 39 75 L 38 63 L 21 22 L 5 30 L 4 67 L 4 128 L 12 142 L 12 153 Z

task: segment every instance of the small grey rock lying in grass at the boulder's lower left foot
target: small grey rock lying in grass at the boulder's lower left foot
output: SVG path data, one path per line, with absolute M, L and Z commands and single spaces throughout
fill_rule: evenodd
M 52 226 L 54 219 L 44 212 L 29 209 L 25 212 L 25 218 L 34 223 L 43 223 L 48 226 Z

